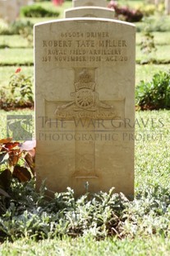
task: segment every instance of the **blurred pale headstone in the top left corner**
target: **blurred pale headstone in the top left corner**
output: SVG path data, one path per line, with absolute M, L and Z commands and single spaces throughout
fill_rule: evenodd
M 15 21 L 18 16 L 16 0 L 1 0 L 0 1 L 0 18 L 5 21 Z

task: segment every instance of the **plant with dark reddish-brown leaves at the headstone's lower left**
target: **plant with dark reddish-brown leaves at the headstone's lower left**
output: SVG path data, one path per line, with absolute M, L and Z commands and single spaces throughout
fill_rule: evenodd
M 21 183 L 34 176 L 34 141 L 21 144 L 11 138 L 0 140 L 0 195 L 9 197 L 7 191 L 11 178 Z

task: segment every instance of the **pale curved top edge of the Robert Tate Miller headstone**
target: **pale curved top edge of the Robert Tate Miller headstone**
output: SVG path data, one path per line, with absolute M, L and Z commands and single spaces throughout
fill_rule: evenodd
M 136 27 L 135 24 L 132 24 L 130 22 L 126 21 L 119 21 L 119 20 L 114 20 L 114 19 L 108 19 L 108 18 L 98 18 L 98 17 L 73 17 L 73 18 L 67 18 L 67 19 L 58 19 L 58 20 L 53 20 L 53 21 L 44 21 L 44 22 L 39 22 L 34 24 L 34 27 L 36 26 L 44 26 L 46 24 L 50 23 L 62 23 L 62 22 L 70 22 L 70 21 L 105 21 L 105 22 L 112 22 L 112 23 L 119 23 L 122 25 L 126 26 L 133 26 Z

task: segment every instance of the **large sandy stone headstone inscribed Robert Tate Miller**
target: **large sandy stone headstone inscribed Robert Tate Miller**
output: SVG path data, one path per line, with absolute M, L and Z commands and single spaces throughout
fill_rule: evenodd
M 135 34 L 99 18 L 34 27 L 37 187 L 133 194 Z

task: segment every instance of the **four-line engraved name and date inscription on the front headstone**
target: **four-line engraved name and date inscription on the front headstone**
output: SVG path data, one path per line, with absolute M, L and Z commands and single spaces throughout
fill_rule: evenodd
M 43 40 L 44 63 L 112 64 L 128 62 L 127 41 L 113 39 L 108 32 L 66 32 L 57 40 Z

